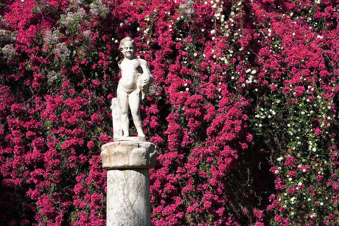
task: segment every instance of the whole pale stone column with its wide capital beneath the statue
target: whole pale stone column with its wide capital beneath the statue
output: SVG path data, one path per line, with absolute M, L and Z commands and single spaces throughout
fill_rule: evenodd
M 107 226 L 150 226 L 149 169 L 155 165 L 156 146 L 141 137 L 126 139 L 115 138 L 101 147 L 107 170 Z

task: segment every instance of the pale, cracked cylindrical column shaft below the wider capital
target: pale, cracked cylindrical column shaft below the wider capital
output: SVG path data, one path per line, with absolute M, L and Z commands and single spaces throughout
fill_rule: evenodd
M 107 226 L 150 226 L 149 169 L 107 171 Z

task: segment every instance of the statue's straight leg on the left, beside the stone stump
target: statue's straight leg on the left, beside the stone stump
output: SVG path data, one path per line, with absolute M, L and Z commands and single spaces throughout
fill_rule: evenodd
M 124 132 L 123 136 L 129 136 L 128 128 L 129 128 L 129 120 L 128 120 L 128 94 L 118 87 L 117 96 L 119 99 L 119 107 L 120 107 L 120 117 L 121 117 L 121 127 Z

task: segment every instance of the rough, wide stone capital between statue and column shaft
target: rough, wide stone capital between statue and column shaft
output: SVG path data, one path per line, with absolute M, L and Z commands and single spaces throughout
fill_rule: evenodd
M 102 167 L 109 169 L 152 169 L 156 146 L 149 142 L 123 140 L 101 146 Z

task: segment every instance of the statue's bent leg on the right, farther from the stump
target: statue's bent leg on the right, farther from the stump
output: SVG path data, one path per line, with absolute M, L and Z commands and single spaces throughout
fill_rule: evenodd
M 134 121 L 135 128 L 137 129 L 138 136 L 145 136 L 142 131 L 142 121 L 140 118 L 140 90 L 133 91 L 128 96 L 129 108 L 131 108 L 132 117 Z

